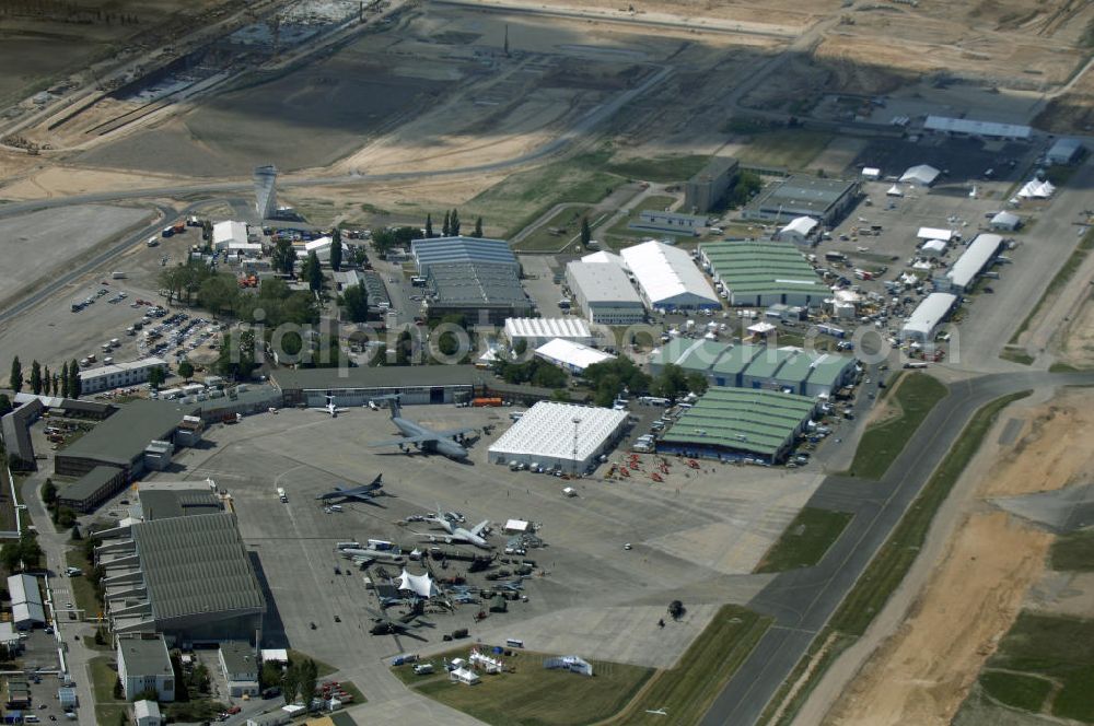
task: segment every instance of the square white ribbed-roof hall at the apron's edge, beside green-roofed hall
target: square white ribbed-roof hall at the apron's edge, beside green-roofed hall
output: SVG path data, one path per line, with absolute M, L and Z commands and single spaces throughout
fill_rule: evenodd
M 626 425 L 626 411 L 540 401 L 490 446 L 490 460 L 584 473 L 615 446 Z

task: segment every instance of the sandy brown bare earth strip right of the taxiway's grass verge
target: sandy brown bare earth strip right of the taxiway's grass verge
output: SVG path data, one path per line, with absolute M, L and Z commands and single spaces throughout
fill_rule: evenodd
M 1013 418 L 1025 420 L 1027 433 L 1011 447 L 999 438 Z M 1044 573 L 1052 539 L 991 510 L 987 501 L 1055 490 L 1089 476 L 1094 456 L 1084 442 L 1091 425 L 1090 390 L 1069 390 L 1048 405 L 1003 413 L 991 443 L 963 476 L 975 482 L 975 492 L 962 502 L 959 523 L 927 587 L 825 723 L 950 723 L 1028 588 Z

